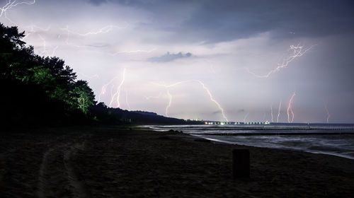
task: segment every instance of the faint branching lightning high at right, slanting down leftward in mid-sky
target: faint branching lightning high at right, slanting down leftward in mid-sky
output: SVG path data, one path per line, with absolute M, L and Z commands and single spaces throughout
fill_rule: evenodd
M 246 71 L 249 72 L 249 74 L 252 74 L 253 76 L 256 76 L 257 78 L 268 78 L 271 74 L 274 74 L 275 72 L 280 71 L 281 69 L 285 69 L 289 66 L 290 62 L 292 62 L 293 60 L 295 60 L 297 57 L 302 57 L 302 55 L 304 55 L 307 51 L 309 51 L 312 47 L 314 47 L 314 45 L 304 48 L 304 46 L 302 45 L 290 45 L 290 51 L 292 52 L 292 54 L 290 54 L 290 56 L 282 59 L 282 62 L 278 64 L 278 66 L 273 69 L 270 70 L 268 72 L 268 74 L 265 75 L 258 75 L 252 71 L 249 70 L 249 68 L 246 68 Z

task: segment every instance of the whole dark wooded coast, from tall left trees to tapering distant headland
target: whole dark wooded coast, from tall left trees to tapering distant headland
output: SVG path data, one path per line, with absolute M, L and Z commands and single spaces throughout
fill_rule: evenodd
M 26 46 L 25 32 L 0 23 L 0 35 L 1 122 L 5 127 L 186 123 L 97 103 L 87 81 L 78 80 L 63 59 L 41 57 L 33 46 Z

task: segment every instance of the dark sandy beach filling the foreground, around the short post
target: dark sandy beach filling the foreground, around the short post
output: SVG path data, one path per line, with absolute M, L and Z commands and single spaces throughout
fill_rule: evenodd
M 251 177 L 232 178 L 249 148 Z M 354 161 L 200 141 L 176 132 L 71 127 L 0 134 L 1 197 L 352 197 Z

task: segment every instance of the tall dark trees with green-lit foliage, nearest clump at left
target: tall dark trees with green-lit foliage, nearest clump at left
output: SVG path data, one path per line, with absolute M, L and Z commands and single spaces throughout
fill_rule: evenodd
M 95 105 L 86 81 L 58 57 L 40 57 L 25 33 L 0 23 L 1 119 L 7 124 L 58 124 L 82 120 Z M 87 118 L 89 119 L 89 118 Z

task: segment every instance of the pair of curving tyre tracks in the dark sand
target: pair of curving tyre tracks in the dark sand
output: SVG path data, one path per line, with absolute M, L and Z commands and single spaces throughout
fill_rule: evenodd
M 66 144 L 58 143 L 43 153 L 38 175 L 38 197 L 90 197 L 72 163 L 77 151 L 84 150 L 85 139 L 86 136 L 80 136 Z

